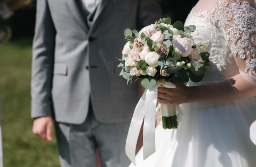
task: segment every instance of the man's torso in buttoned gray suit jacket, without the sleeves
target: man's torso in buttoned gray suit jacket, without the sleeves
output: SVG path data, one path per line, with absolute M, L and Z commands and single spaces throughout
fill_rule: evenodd
M 90 13 L 82 0 L 48 0 L 56 29 L 52 98 L 56 120 L 84 121 L 91 96 L 101 122 L 130 121 L 137 84 L 119 77 L 123 30 L 136 29 L 137 0 L 102 0 Z

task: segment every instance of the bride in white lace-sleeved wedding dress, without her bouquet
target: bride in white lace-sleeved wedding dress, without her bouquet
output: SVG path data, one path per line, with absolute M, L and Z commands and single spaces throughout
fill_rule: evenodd
M 203 81 L 158 88 L 158 101 L 181 104 L 178 129 L 156 128 L 156 152 L 136 167 L 255 167 L 249 126 L 256 120 L 256 2 L 199 0 L 186 25 L 207 43 L 211 66 Z M 133 164 L 130 164 L 133 167 Z

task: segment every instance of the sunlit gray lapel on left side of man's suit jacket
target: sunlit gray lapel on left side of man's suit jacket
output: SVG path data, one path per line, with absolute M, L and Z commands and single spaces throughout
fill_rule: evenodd
M 82 28 L 88 32 L 88 26 L 85 24 L 85 20 L 83 19 L 81 12 L 79 8 L 77 7 L 77 2 L 76 0 L 65 0 L 66 4 L 68 5 L 70 11 L 76 18 L 77 22 L 82 26 Z

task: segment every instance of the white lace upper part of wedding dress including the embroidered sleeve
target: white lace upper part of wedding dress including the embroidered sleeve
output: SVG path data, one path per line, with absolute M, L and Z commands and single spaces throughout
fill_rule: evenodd
M 207 44 L 204 48 L 210 53 L 211 66 L 206 72 L 204 82 L 222 81 L 238 74 L 240 66 L 236 57 L 245 60 L 243 63 L 246 64 L 246 69 L 240 67 L 241 70 L 255 74 L 253 69 L 256 63 L 250 63 L 255 62 L 255 13 L 255 9 L 246 1 L 228 3 L 220 0 L 212 11 L 195 12 L 192 9 L 185 25 L 196 26 L 192 38 Z

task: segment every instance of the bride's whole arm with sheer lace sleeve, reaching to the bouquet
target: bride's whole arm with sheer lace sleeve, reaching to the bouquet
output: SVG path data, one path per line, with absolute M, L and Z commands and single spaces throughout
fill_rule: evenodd
M 237 2 L 237 1 L 236 1 Z M 256 6 L 253 0 L 224 4 L 215 13 L 240 74 L 222 82 L 187 87 L 175 83 L 176 89 L 159 87 L 158 100 L 165 104 L 233 101 L 256 95 Z M 232 7 L 231 7 L 232 6 Z M 218 13 L 219 12 L 219 13 Z

